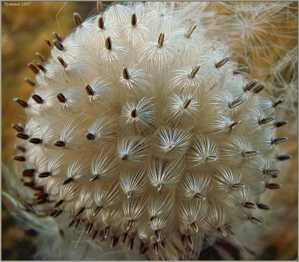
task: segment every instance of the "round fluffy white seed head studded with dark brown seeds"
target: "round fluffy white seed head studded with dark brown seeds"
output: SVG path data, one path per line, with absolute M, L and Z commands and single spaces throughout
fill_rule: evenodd
M 28 121 L 13 125 L 14 159 L 25 186 L 43 187 L 37 204 L 142 255 L 262 225 L 260 196 L 280 188 L 276 164 L 290 158 L 275 149 L 287 139 L 273 116 L 283 100 L 260 97 L 247 67 L 173 3 L 98 11 L 74 13 L 73 33 L 46 40 L 50 58 L 29 64 L 32 96 L 15 99 Z

